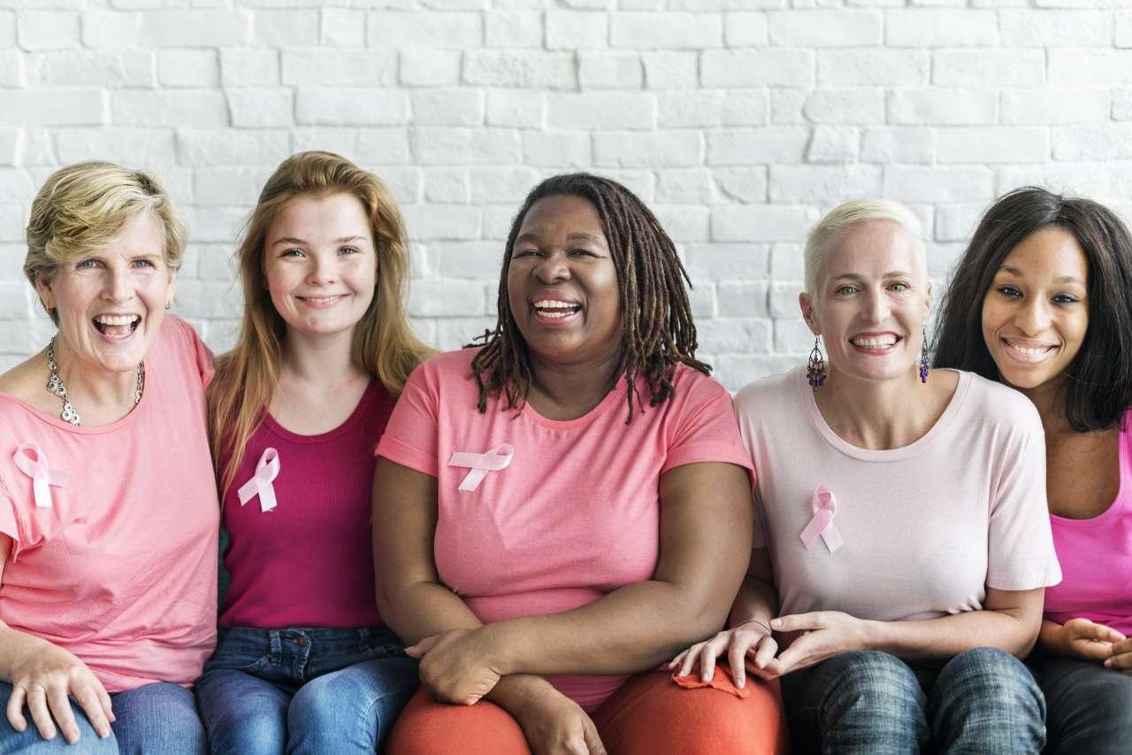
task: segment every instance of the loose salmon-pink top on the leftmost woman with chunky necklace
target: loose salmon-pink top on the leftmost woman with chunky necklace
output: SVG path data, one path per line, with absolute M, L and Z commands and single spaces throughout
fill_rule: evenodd
M 212 359 L 187 323 L 166 316 L 145 375 L 134 410 L 93 427 L 0 393 L 0 532 L 12 538 L 0 619 L 75 653 L 111 693 L 188 686 L 216 635 Z M 68 486 L 51 487 L 50 508 L 36 507 L 12 461 L 27 442 L 70 474 Z

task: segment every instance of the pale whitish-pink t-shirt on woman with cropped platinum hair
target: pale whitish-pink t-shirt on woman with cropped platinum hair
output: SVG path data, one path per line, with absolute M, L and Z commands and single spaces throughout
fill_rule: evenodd
M 758 475 L 755 540 L 770 549 L 782 614 L 931 619 L 981 609 L 987 587 L 1061 579 L 1045 436 L 1021 393 L 961 372 L 935 425 L 892 450 L 839 438 L 800 367 L 747 385 L 735 406 Z M 837 501 L 837 552 L 799 537 L 818 486 Z

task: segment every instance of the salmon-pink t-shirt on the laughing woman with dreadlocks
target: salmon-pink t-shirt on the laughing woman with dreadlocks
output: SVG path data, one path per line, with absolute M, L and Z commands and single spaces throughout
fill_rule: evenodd
M 437 478 L 434 553 L 441 582 L 484 623 L 580 608 L 651 579 L 660 545 L 660 477 L 696 461 L 749 468 L 727 391 L 680 365 L 674 396 L 626 425 L 625 383 L 589 414 L 557 422 L 498 399 L 477 408 L 475 349 L 429 359 L 409 379 L 377 453 Z M 638 383 L 648 401 L 648 388 Z M 453 452 L 514 449 L 474 491 Z M 626 677 L 549 677 L 592 711 Z

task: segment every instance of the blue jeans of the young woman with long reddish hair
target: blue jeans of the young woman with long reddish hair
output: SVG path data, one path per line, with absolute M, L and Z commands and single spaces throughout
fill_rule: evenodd
M 197 681 L 214 754 L 374 753 L 417 689 L 385 627 L 221 629 Z

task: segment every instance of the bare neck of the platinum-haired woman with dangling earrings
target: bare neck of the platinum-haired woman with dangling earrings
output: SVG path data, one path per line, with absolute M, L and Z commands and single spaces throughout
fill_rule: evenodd
M 894 380 L 857 380 L 830 367 L 814 395 L 818 410 L 842 439 L 869 449 L 901 448 L 920 438 L 931 423 L 919 367 Z

